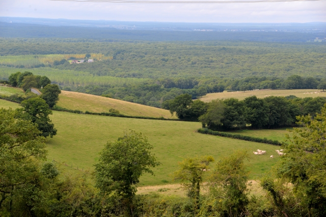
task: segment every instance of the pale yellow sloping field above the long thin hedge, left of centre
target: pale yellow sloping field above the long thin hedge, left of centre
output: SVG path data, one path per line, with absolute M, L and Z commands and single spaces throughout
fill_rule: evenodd
M 108 112 L 111 108 L 132 116 L 176 118 L 168 110 L 80 92 L 61 91 L 58 106 L 81 111 Z

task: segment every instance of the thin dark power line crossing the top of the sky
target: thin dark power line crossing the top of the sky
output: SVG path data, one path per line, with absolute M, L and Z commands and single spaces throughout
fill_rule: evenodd
M 232 4 L 232 3 L 271 3 L 271 2 L 312 2 L 321 0 L 244 0 L 244 1 L 142 1 L 142 0 L 49 0 L 57 2 L 95 2 L 95 3 L 131 3 L 131 4 Z

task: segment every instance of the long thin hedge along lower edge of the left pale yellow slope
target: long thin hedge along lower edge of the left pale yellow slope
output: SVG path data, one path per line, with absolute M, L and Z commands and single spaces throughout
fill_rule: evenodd
M 80 111 L 80 110 L 70 110 L 66 108 L 62 108 L 60 106 L 53 106 L 52 110 L 56 111 L 64 111 L 70 113 L 77 113 L 77 114 L 92 114 L 92 115 L 100 115 L 100 116 L 112 116 L 112 117 L 127 117 L 127 118 L 138 118 L 138 119 L 152 119 L 152 120 L 174 120 L 174 121 L 182 121 L 180 119 L 168 119 L 165 117 L 146 117 L 146 116 L 131 116 L 131 115 L 124 115 L 116 112 L 91 112 L 91 111 Z

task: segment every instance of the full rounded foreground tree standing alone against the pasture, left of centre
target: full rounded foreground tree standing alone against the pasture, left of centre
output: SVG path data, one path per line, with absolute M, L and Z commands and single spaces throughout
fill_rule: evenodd
M 116 192 L 130 205 L 140 176 L 145 172 L 153 174 L 151 168 L 159 165 L 150 149 L 153 146 L 147 138 L 132 130 L 115 142 L 108 141 L 95 165 L 96 187 L 101 194 Z

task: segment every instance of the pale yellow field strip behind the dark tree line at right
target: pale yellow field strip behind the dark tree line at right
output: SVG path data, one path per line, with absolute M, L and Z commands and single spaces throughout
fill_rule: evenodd
M 248 91 L 236 91 L 236 92 L 216 92 L 214 94 L 207 94 L 200 100 L 204 102 L 210 102 L 215 99 L 228 99 L 236 98 L 243 100 L 247 97 L 256 96 L 257 98 L 264 98 L 269 96 L 286 97 L 294 95 L 296 97 L 326 97 L 326 92 L 317 89 L 260 89 L 260 90 L 248 90 Z

